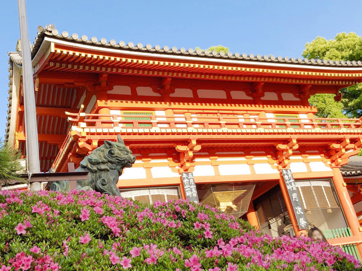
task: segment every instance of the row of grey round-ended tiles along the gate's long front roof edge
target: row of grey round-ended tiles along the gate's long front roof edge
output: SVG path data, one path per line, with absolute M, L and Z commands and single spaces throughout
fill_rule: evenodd
M 32 56 L 34 56 L 41 45 L 45 36 L 50 36 L 58 39 L 64 39 L 68 41 L 75 41 L 84 44 L 97 45 L 102 47 L 112 47 L 112 48 L 120 48 L 124 50 L 137 50 L 137 51 L 147 51 L 152 53 L 168 53 L 173 55 L 183 55 L 183 56 L 199 56 L 200 58 L 222 58 L 222 59 L 236 59 L 236 60 L 252 60 L 258 62 L 279 62 L 279 63 L 291 63 L 291 64 L 303 64 L 303 65 L 324 65 L 324 66 L 349 66 L 349 67 L 361 67 L 362 63 L 360 60 L 356 61 L 332 61 L 332 60 L 321 60 L 321 59 L 308 59 L 308 58 L 288 58 L 287 56 L 268 56 L 268 55 L 253 55 L 253 54 L 239 54 L 239 53 L 224 53 L 224 52 L 216 52 L 209 50 L 194 50 L 192 48 L 186 50 L 185 48 L 176 48 L 176 47 L 161 47 L 159 45 L 152 46 L 147 44 L 143 46 L 142 43 L 134 44 L 132 42 L 125 43 L 123 41 L 116 42 L 114 39 L 107 41 L 105 38 L 101 38 L 98 40 L 96 37 L 92 37 L 88 39 L 87 36 L 83 35 L 79 37 L 77 34 L 69 35 L 68 32 L 63 31 L 59 33 L 58 30 L 55 29 L 53 25 L 47 25 L 46 27 L 38 26 L 38 35 L 35 38 L 35 42 L 33 45 Z

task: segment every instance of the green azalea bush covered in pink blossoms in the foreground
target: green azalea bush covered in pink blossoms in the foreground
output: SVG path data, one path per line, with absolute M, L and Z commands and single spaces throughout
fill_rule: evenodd
M 153 206 L 93 191 L 0 191 L 0 271 L 355 270 L 339 247 L 272 238 L 186 200 Z

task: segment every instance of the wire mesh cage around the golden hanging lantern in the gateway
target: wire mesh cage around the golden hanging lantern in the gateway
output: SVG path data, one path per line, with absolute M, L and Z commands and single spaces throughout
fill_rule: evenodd
M 248 211 L 255 184 L 214 184 L 203 187 L 205 194 L 200 202 L 220 211 L 240 217 Z

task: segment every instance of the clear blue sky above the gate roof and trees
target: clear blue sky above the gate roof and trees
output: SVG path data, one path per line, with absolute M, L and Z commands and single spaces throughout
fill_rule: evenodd
M 88 38 L 208 48 L 224 45 L 231 52 L 299 57 L 316 36 L 334 38 L 353 31 L 362 35 L 362 1 L 143 1 L 27 0 L 29 38 L 37 26 L 55 23 Z M 0 10 L 0 137 L 4 134 L 8 97 L 8 51 L 19 38 L 17 1 Z

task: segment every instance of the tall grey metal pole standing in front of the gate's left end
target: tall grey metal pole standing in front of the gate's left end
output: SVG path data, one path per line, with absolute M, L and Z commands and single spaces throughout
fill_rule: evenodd
M 40 173 L 37 113 L 35 111 L 33 69 L 31 65 L 28 20 L 26 18 L 25 0 L 18 0 L 18 9 L 22 54 L 22 89 L 24 93 L 25 138 L 28 172 Z M 32 191 L 40 190 L 40 183 L 31 183 L 30 189 Z

